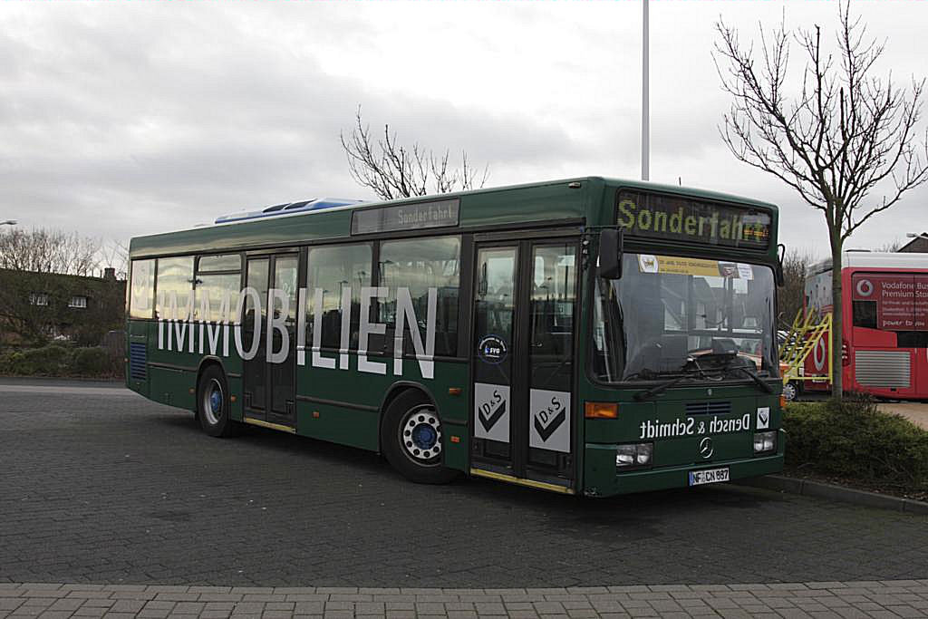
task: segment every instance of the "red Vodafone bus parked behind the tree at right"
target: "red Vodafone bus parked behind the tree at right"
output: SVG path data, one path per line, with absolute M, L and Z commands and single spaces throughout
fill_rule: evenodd
M 844 252 L 843 350 L 834 371 L 844 390 L 891 399 L 928 399 L 928 253 Z M 831 260 L 806 276 L 806 312 L 831 312 Z M 828 374 L 829 334 L 806 358 L 806 377 Z M 829 381 L 803 381 L 830 391 Z

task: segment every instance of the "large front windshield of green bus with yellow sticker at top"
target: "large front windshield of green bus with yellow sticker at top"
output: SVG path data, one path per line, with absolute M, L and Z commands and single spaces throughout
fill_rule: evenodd
M 694 370 L 693 380 L 718 380 L 716 370 L 743 368 L 776 377 L 774 297 L 769 266 L 625 253 L 621 279 L 597 280 L 593 374 L 621 382 Z

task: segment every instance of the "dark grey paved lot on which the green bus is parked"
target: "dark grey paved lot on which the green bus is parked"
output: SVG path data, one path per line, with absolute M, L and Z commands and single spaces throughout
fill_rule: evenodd
M 574 587 L 928 577 L 928 519 L 715 486 L 408 484 L 374 454 L 0 380 L 0 583 Z M 0 596 L 2 597 L 2 596 Z M 0 612 L 2 613 L 2 612 Z

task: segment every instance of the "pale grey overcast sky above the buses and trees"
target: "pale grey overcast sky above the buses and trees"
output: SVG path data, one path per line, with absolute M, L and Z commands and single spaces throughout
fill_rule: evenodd
M 928 72 L 928 3 L 852 9 L 886 39 L 881 71 L 900 84 Z M 717 132 L 715 21 L 754 36 L 784 10 L 788 25 L 837 22 L 834 2 L 651 1 L 651 180 L 778 203 L 780 239 L 824 255 L 820 214 Z M 20 226 L 124 240 L 246 207 L 371 199 L 339 142 L 358 105 L 375 130 L 466 150 L 488 186 L 640 174 L 636 0 L 4 2 L 0 59 L 0 221 Z M 904 239 L 926 214 L 922 187 L 848 245 Z

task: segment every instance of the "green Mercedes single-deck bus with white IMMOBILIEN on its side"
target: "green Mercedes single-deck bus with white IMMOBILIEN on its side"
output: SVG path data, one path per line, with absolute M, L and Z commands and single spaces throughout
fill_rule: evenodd
M 613 496 L 780 471 L 777 214 L 591 176 L 135 238 L 126 385 L 213 436 L 353 445 L 418 483 Z

